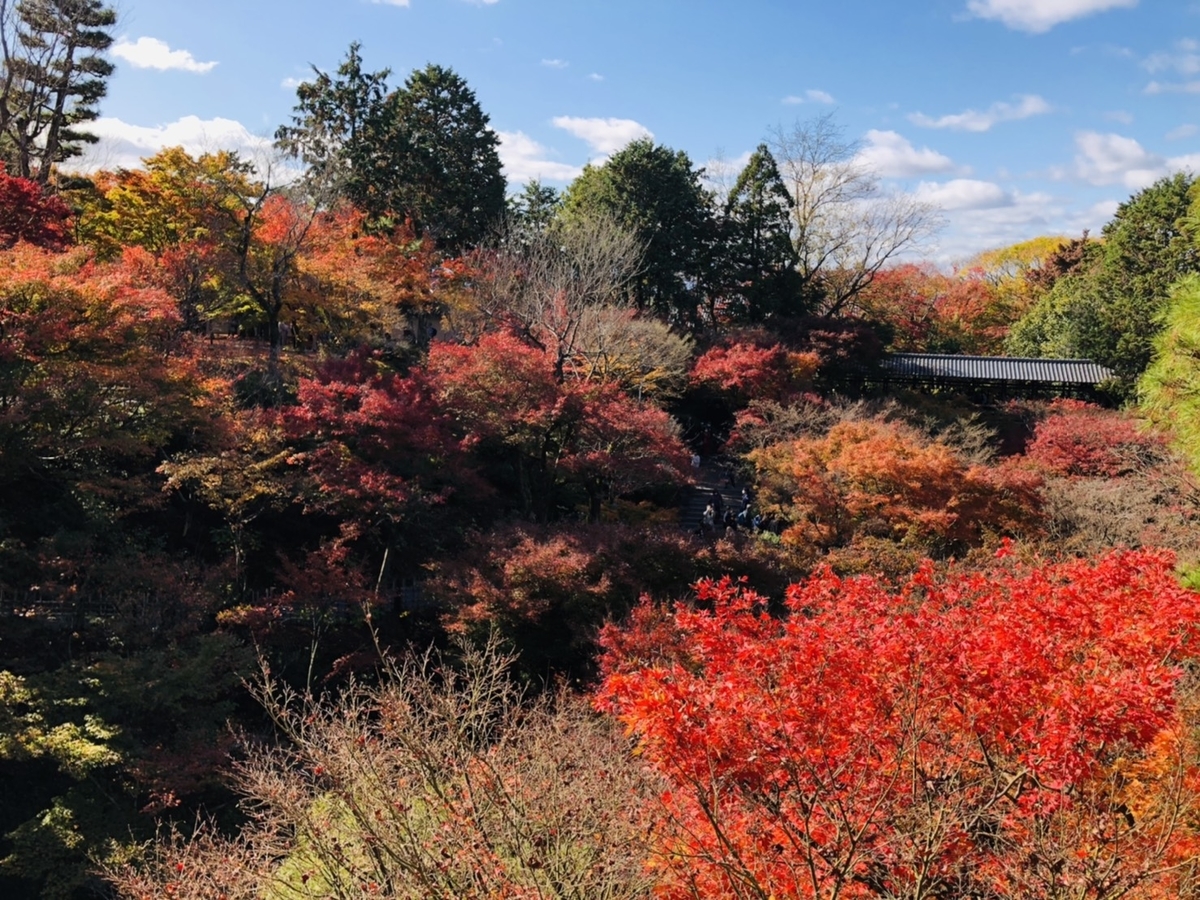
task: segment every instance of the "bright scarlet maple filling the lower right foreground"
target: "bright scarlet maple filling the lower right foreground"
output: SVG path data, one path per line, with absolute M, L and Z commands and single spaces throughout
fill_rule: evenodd
M 599 704 L 670 782 L 662 898 L 1190 889 L 1200 598 L 1172 559 L 730 581 L 604 635 Z

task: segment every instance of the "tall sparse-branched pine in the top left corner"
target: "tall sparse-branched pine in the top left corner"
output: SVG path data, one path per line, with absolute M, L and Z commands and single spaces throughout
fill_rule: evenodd
M 41 185 L 55 163 L 79 156 L 113 64 L 116 12 L 101 0 L 0 0 L 0 157 Z

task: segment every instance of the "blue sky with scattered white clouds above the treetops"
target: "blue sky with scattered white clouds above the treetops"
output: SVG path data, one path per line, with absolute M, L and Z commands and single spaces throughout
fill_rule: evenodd
M 1098 229 L 1200 172 L 1194 0 L 122 0 L 89 164 L 260 151 L 311 66 L 352 41 L 400 84 L 475 90 L 510 185 L 565 185 L 652 134 L 713 172 L 834 113 L 887 190 L 937 204 L 943 263 Z

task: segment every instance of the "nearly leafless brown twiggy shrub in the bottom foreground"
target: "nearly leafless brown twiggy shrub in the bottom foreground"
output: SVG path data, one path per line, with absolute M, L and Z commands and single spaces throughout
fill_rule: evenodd
M 511 660 L 391 666 L 337 700 L 257 692 L 287 742 L 240 768 L 246 826 L 164 834 L 119 896 L 649 896 L 653 776 L 578 700 L 523 701 Z

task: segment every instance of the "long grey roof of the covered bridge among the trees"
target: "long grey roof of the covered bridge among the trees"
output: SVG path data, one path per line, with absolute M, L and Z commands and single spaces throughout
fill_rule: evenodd
M 1086 359 L 962 356 L 893 353 L 881 364 L 895 380 L 1024 382 L 1027 384 L 1099 384 L 1115 377 L 1111 368 Z

